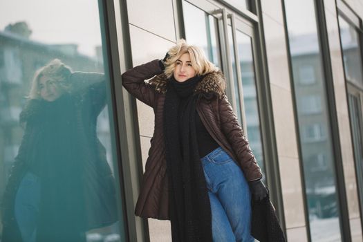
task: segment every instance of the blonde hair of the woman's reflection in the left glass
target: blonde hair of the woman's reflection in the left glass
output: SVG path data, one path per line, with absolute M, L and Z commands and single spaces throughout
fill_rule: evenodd
M 41 77 L 50 77 L 62 91 L 69 91 L 71 84 L 68 82 L 72 69 L 59 59 L 51 60 L 46 66 L 39 68 L 32 79 L 32 85 L 28 95 L 29 99 L 41 99 L 39 91 L 39 80 Z

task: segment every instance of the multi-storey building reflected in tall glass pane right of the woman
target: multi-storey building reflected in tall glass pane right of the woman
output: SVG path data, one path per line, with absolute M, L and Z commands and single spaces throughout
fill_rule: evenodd
M 320 74 L 322 62 L 316 43 L 317 35 L 314 34 L 290 37 L 306 196 L 310 214 L 326 218 L 337 216 L 338 208 L 335 201 L 334 159 L 328 152 L 331 127 L 326 122 L 328 113 L 324 103 L 327 100 L 322 100 L 324 97 L 321 95 L 324 81 Z

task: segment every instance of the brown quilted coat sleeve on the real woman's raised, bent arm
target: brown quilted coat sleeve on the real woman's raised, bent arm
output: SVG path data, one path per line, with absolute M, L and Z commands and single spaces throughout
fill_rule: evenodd
M 145 80 L 162 73 L 158 62 L 158 59 L 154 59 L 146 64 L 131 68 L 122 74 L 122 85 L 124 88 L 138 100 L 151 107 L 155 106 L 158 93 Z

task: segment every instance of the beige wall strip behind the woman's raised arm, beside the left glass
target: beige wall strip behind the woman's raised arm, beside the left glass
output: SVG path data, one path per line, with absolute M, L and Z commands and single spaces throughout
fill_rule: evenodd
M 174 6 L 171 0 L 128 0 L 129 29 L 133 66 L 153 59 L 162 59 L 176 41 Z M 145 167 L 147 151 L 153 134 L 153 109 L 137 101 L 142 163 Z M 149 219 L 150 241 L 171 241 L 169 221 Z

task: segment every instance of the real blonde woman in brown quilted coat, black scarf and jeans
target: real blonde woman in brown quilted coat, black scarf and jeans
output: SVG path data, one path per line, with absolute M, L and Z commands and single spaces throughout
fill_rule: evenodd
M 221 71 L 180 40 L 122 84 L 155 112 L 136 215 L 170 219 L 173 241 L 254 241 L 250 189 L 256 200 L 268 192 Z

